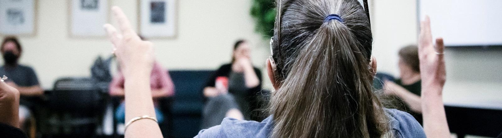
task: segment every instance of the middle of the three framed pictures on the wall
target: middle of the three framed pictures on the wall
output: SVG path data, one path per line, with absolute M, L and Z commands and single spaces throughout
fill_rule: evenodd
M 70 37 L 105 37 L 103 25 L 108 23 L 108 1 L 69 1 Z

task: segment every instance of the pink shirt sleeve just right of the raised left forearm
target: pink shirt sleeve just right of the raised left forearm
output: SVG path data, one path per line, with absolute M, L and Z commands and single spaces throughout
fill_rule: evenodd
M 168 97 L 174 95 L 174 84 L 167 73 L 167 70 L 164 70 L 159 64 L 154 64 L 154 72 L 158 75 L 157 83 L 160 86 L 160 89 L 165 89 Z

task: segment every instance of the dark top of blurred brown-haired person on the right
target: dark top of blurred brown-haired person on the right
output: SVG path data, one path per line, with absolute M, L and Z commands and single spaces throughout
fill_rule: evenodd
M 422 92 L 422 80 L 419 80 L 413 84 L 410 84 L 410 85 L 404 85 L 402 80 L 401 79 L 397 79 L 395 80 L 396 84 L 398 84 L 399 86 L 405 88 L 406 90 L 410 91 L 411 93 L 415 94 L 415 95 L 418 95 L 420 96 L 421 95 L 421 92 Z M 399 99 L 399 102 L 400 104 L 404 105 L 404 106 L 401 106 L 400 110 L 403 110 L 403 111 L 406 111 L 406 112 L 409 112 L 413 117 L 415 117 L 415 119 L 417 119 L 417 121 L 420 123 L 420 124 L 423 124 L 422 123 L 422 114 L 421 113 L 418 113 L 418 112 L 414 112 L 411 110 L 410 106 L 408 106 L 407 104 L 404 103 L 404 101 L 402 99 Z

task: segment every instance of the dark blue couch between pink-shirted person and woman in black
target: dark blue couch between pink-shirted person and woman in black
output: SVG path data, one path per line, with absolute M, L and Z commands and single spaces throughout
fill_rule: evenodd
M 175 86 L 170 117 L 170 137 L 193 137 L 200 130 L 203 107 L 201 91 L 211 77 L 212 70 L 171 70 L 169 75 Z

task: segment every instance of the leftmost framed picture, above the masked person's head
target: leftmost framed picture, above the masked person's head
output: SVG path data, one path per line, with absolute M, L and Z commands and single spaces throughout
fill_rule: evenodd
M 35 0 L 0 0 L 0 34 L 35 35 Z

